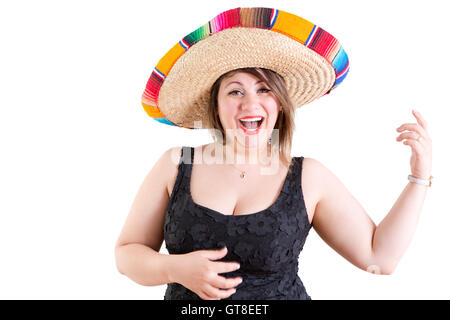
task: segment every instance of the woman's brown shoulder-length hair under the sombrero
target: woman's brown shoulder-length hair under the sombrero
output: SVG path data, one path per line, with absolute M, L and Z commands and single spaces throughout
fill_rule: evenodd
M 272 90 L 275 97 L 281 105 L 281 111 L 278 113 L 278 118 L 275 123 L 274 129 L 278 129 L 279 133 L 279 155 L 280 160 L 289 168 L 292 157 L 292 138 L 294 136 L 295 129 L 295 110 L 293 103 L 289 97 L 286 85 L 283 78 L 276 72 L 264 69 L 264 68 L 240 68 L 229 71 L 221 75 L 211 88 L 211 94 L 209 99 L 208 120 L 213 129 L 219 130 L 223 137 L 223 143 L 226 142 L 225 131 L 222 127 L 219 118 L 218 111 L 218 99 L 220 84 L 225 78 L 231 77 L 238 72 L 249 73 L 259 80 L 263 81 Z M 215 137 L 216 131 L 212 130 L 212 135 Z

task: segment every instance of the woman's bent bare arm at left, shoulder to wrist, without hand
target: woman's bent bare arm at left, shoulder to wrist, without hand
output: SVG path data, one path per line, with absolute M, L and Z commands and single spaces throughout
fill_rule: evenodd
M 172 152 L 167 150 L 145 177 L 115 246 L 118 271 L 145 286 L 171 282 L 168 266 L 174 256 L 159 250 L 169 201 L 167 183 L 177 170 Z

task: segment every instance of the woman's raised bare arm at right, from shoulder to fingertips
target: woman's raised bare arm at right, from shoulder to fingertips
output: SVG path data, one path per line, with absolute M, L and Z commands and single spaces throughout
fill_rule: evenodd
M 418 123 L 406 123 L 397 141 L 411 146 L 411 173 L 428 179 L 431 172 L 431 138 L 427 123 L 413 112 Z M 421 137 L 418 140 L 418 137 Z M 416 229 L 427 186 L 408 183 L 392 209 L 376 226 L 364 208 L 339 179 L 320 162 L 306 158 L 311 173 L 321 182 L 320 199 L 314 212 L 317 233 L 344 258 L 374 273 L 391 274 L 405 253 Z M 305 159 L 305 160 L 306 160 Z

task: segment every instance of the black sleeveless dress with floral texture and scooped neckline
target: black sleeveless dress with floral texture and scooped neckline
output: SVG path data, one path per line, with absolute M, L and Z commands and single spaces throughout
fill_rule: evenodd
M 282 190 L 269 208 L 246 215 L 225 215 L 195 203 L 190 181 L 194 148 L 183 147 L 169 199 L 164 241 L 170 254 L 227 247 L 225 257 L 240 268 L 221 276 L 242 277 L 224 300 L 309 300 L 298 276 L 298 256 L 311 229 L 301 187 L 303 157 L 294 157 Z M 169 283 L 165 300 L 198 300 L 179 283 Z

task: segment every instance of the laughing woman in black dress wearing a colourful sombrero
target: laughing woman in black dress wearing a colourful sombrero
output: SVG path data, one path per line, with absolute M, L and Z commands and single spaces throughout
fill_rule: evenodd
M 418 123 L 397 129 L 412 148 L 412 174 L 376 226 L 319 161 L 290 156 L 295 108 L 348 72 L 334 37 L 267 8 L 229 10 L 205 26 L 161 59 L 143 104 L 159 122 L 211 129 L 214 143 L 171 148 L 157 161 L 117 241 L 119 272 L 168 284 L 165 299 L 310 299 L 297 273 L 314 227 L 355 266 L 392 273 L 431 185 L 423 117 L 414 112 Z

